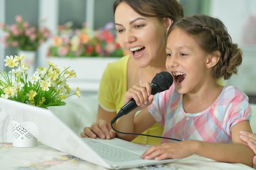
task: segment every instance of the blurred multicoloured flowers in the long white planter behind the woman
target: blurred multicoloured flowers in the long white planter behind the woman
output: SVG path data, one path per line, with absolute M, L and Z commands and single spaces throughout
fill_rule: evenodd
M 97 30 L 88 28 L 86 24 L 81 29 L 71 29 L 71 27 L 72 22 L 59 26 L 58 36 L 53 37 L 48 56 L 122 57 L 126 55 L 117 42 L 116 30 L 112 22 Z

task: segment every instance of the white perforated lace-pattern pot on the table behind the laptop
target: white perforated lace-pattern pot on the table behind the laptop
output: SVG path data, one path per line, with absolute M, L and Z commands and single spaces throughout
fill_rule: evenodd
M 38 140 L 26 129 L 25 123 L 18 123 L 11 118 L 11 132 L 13 136 L 13 146 L 33 147 L 37 146 Z

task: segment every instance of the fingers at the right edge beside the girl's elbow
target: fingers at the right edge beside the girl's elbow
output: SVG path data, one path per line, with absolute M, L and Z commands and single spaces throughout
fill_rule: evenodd
M 240 139 L 247 143 L 256 155 L 256 133 L 252 134 L 247 131 L 240 131 Z M 256 169 L 256 156 L 253 157 L 253 168 Z

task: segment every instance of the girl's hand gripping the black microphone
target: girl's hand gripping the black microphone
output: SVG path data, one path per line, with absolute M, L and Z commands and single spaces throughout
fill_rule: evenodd
M 139 86 L 133 85 L 125 94 L 124 104 L 130 102 L 131 99 L 134 99 L 137 106 L 140 106 L 136 111 L 142 110 L 152 104 L 153 95 L 151 95 L 150 83 L 147 82 Z

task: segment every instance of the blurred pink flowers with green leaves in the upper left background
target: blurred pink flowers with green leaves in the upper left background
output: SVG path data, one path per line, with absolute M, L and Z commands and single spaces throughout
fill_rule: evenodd
M 36 28 L 23 21 L 20 15 L 16 16 L 16 24 L 5 25 L 0 23 L 0 29 L 5 32 L 1 39 L 4 47 L 14 47 L 17 50 L 36 51 L 40 44 L 50 38 L 51 33 L 45 26 Z

